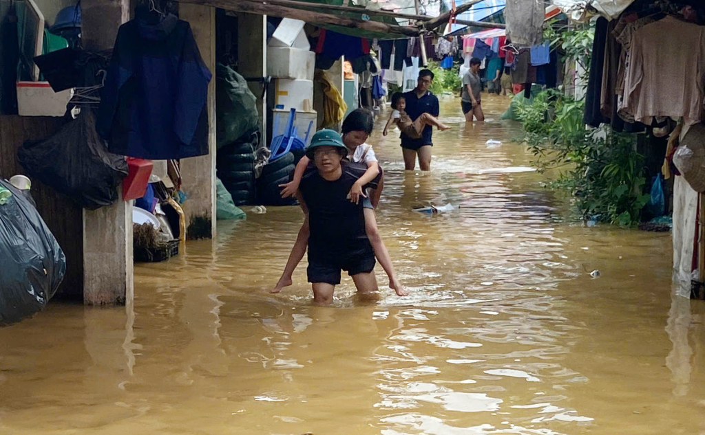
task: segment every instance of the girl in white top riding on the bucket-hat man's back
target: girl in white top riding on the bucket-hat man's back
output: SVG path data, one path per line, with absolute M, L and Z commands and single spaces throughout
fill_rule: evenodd
M 388 258 L 389 254 L 379 235 L 374 209 L 379 204 L 379 197 L 381 196 L 384 178 L 383 174 L 381 174 L 381 168 L 379 168 L 379 164 L 377 163 L 377 158 L 374 154 L 374 150 L 372 150 L 372 146 L 364 143 L 369 137 L 369 134 L 372 133 L 373 128 L 374 118 L 372 117 L 372 113 L 363 108 L 353 111 L 343 121 L 342 140 L 345 148 L 348 149 L 349 156 L 352 156 L 350 161 L 353 163 L 364 163 L 367 165 L 367 171 L 364 172 L 360 179 L 357 179 L 355 184 L 353 184 L 353 187 L 348 193 L 348 198 L 350 198 L 351 202 L 356 204 L 362 199 L 364 207 L 365 231 L 367 232 L 367 237 L 369 240 L 372 241 L 375 256 L 379 260 L 385 272 L 387 272 L 389 277 L 389 287 L 395 290 L 398 296 L 406 296 L 407 292 L 398 281 L 396 272 L 394 272 L 391 263 L 383 260 L 383 258 Z M 296 194 L 302 176 L 310 161 L 311 160 L 306 156 L 302 157 L 296 165 L 293 180 L 280 186 L 283 188 L 281 191 L 281 196 L 283 198 Z M 374 181 L 374 179 L 378 176 L 379 183 L 376 189 L 368 189 L 367 192 L 363 192 L 363 187 Z M 306 210 L 304 211 L 306 212 Z M 309 226 L 307 218 L 299 230 L 296 243 L 291 250 L 288 262 L 284 268 L 284 272 L 271 293 L 278 293 L 284 287 L 291 285 L 293 272 L 306 253 L 308 238 Z

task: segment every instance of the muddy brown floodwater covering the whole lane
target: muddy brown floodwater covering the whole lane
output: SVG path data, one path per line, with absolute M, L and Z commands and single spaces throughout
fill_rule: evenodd
M 705 306 L 672 298 L 670 236 L 565 220 L 508 99 L 484 103 L 475 126 L 442 103 L 426 174 L 377 122 L 379 227 L 411 296 L 378 266 L 376 305 L 346 278 L 314 307 L 305 263 L 271 296 L 298 208 L 221 222 L 137 265 L 127 314 L 51 303 L 0 329 L 0 434 L 705 434 Z

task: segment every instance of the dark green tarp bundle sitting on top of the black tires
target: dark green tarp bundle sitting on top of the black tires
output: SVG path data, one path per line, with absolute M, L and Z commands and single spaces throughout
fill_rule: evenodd
M 240 137 L 257 128 L 257 97 L 242 75 L 233 68 L 216 65 L 216 144 L 232 144 Z

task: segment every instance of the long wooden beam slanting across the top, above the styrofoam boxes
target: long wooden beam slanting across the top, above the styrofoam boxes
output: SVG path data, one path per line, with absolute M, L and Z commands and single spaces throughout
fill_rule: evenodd
M 294 18 L 307 23 L 341 25 L 353 27 L 355 29 L 367 30 L 369 32 L 400 34 L 404 36 L 416 37 L 419 30 L 416 27 L 390 25 L 371 20 L 358 20 L 357 18 L 341 17 L 329 13 L 305 11 L 303 9 L 289 8 L 274 4 L 263 4 L 249 0 L 176 0 L 179 3 L 200 4 L 202 6 L 212 6 L 222 8 L 227 11 L 254 13 L 256 15 L 271 15 L 279 18 Z

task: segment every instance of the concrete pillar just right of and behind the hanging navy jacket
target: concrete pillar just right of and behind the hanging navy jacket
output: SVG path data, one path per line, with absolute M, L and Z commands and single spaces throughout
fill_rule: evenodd
M 213 73 L 208 87 L 207 156 L 181 160 L 181 190 L 188 195 L 183 203 L 186 234 L 189 239 L 210 239 L 216 234 L 216 14 L 215 8 L 179 4 L 179 18 L 188 21 L 201 52 Z

